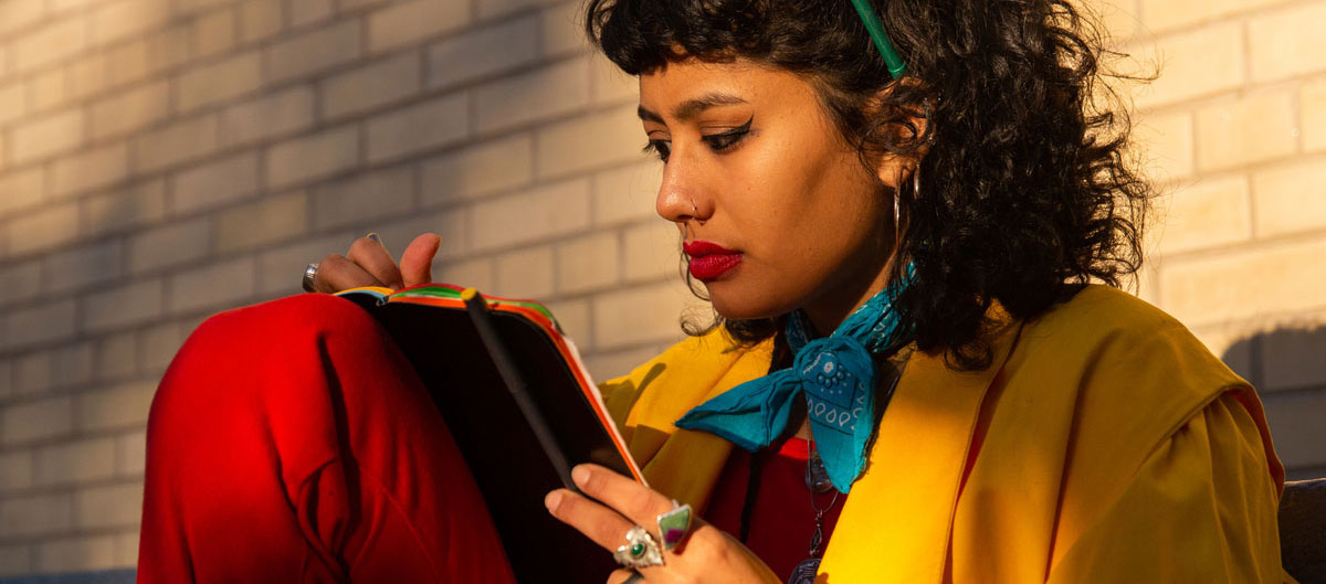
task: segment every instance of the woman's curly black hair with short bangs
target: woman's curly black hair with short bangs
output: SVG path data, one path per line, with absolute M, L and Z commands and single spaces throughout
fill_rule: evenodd
M 907 64 L 902 79 L 849 0 L 590 0 L 586 32 L 633 75 L 687 58 L 797 73 L 863 163 L 919 158 L 919 192 L 896 189 L 892 275 L 915 266 L 898 307 L 918 350 L 981 369 L 987 332 L 1002 324 L 993 302 L 1030 319 L 1142 265 L 1152 187 L 1132 170 L 1127 109 L 1107 83 L 1103 58 L 1116 53 L 1094 15 L 1065 0 L 873 4 Z M 782 322 L 715 326 L 756 342 Z

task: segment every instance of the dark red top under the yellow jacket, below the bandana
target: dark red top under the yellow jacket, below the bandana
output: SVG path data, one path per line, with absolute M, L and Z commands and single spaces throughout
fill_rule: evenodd
M 754 454 L 764 458 L 764 465 L 760 467 L 760 489 L 754 495 L 751 534 L 745 544 L 784 581 L 801 560 L 810 556 L 810 536 L 815 531 L 815 511 L 810 507 L 810 489 L 806 487 L 805 478 L 809 452 L 809 442 L 805 440 L 788 438 Z M 741 534 L 741 506 L 751 478 L 751 456 L 740 448 L 732 449 L 705 516 L 733 538 Z M 834 493 L 838 491 L 814 495 L 815 507 L 827 507 L 818 552 L 821 556 L 829 544 L 829 534 L 838 523 L 838 512 L 847 501 L 842 494 L 834 501 Z

